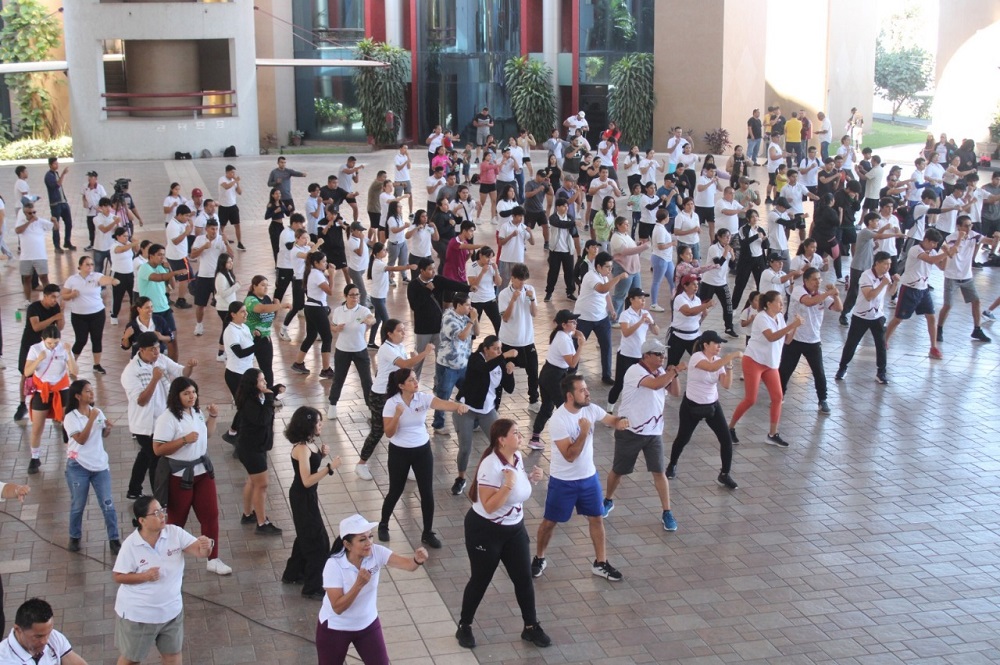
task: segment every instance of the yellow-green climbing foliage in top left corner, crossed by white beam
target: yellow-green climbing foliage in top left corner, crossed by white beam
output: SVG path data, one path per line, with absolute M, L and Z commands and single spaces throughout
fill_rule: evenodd
M 0 29 L 0 61 L 8 63 L 39 62 L 62 38 L 62 26 L 49 14 L 40 0 L 9 0 L 3 11 Z M 21 113 L 18 133 L 50 138 L 56 134 L 52 112 L 51 74 L 8 74 L 7 85 Z

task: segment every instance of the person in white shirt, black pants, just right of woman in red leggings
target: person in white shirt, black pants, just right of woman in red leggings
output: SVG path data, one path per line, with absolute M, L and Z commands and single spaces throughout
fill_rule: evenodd
M 813 385 L 816 387 L 816 399 L 819 400 L 819 410 L 830 413 L 826 401 L 826 372 L 823 371 L 823 345 L 820 329 L 823 326 L 823 312 L 840 312 L 844 309 L 840 302 L 840 292 L 836 285 L 827 284 L 820 290 L 822 283 L 820 271 L 814 267 L 806 268 L 802 274 L 802 283 L 792 289 L 792 298 L 788 307 L 789 316 L 801 316 L 802 325 L 792 335 L 792 340 L 781 350 L 781 363 L 778 374 L 781 378 L 781 394 L 788 388 L 788 380 L 792 372 L 799 366 L 802 356 L 809 363 L 809 371 L 813 374 Z M 751 329 L 752 330 L 752 329 Z

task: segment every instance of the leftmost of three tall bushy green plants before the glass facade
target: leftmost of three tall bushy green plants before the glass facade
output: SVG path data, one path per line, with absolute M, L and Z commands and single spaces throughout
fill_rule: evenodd
M 406 78 L 410 64 L 407 52 L 398 46 L 365 39 L 354 49 L 358 60 L 377 60 L 388 67 L 359 67 L 354 73 L 354 92 L 361 110 L 365 131 L 377 145 L 396 142 L 406 113 Z M 395 116 L 393 126 L 386 124 L 386 113 Z

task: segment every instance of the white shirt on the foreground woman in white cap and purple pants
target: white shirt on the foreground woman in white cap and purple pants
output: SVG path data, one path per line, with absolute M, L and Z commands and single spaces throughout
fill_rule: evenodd
M 331 630 L 357 631 L 372 625 L 378 618 L 378 580 L 382 569 L 389 563 L 392 550 L 381 545 L 372 545 L 371 556 L 361 560 L 361 567 L 371 573 L 368 584 L 361 587 L 351 606 L 341 614 L 333 611 L 330 596 L 323 594 L 323 606 L 319 611 L 319 622 Z M 347 560 L 347 555 L 332 556 L 323 566 L 323 588 L 342 589 L 348 593 L 358 580 L 357 568 Z

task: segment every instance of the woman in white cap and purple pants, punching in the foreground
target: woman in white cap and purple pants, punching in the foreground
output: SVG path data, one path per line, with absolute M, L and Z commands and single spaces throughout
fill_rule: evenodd
M 323 568 L 326 596 L 316 624 L 319 665 L 341 665 L 353 644 L 365 665 L 388 665 L 389 654 L 378 618 L 378 580 L 385 566 L 415 571 L 427 561 L 427 550 L 412 557 L 393 554 L 375 544 L 377 526 L 361 515 L 340 521 L 340 535 Z

